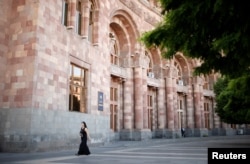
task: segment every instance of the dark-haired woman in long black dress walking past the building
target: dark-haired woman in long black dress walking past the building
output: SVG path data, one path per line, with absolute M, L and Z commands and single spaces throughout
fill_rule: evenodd
M 81 144 L 76 155 L 89 155 L 89 147 L 87 145 L 87 140 L 90 140 L 89 131 L 86 123 L 83 121 L 80 129 Z

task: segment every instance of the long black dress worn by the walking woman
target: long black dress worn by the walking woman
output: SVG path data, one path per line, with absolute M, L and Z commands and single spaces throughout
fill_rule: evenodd
M 77 155 L 89 155 L 89 147 L 87 145 L 87 133 L 85 131 L 85 128 L 80 130 L 80 135 L 81 135 L 81 144 L 79 146 L 79 150 Z

